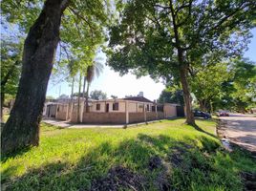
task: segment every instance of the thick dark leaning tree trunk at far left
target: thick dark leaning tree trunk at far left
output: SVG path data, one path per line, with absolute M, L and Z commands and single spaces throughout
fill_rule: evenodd
M 18 92 L 2 131 L 3 153 L 39 144 L 39 123 L 67 5 L 68 0 L 47 0 L 25 40 Z

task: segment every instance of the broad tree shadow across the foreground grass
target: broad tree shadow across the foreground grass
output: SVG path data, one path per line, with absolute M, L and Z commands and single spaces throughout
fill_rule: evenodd
M 198 141 L 202 146 L 198 146 Z M 150 169 L 152 157 L 160 166 Z M 245 163 L 241 163 L 245 162 Z M 246 165 L 246 166 L 245 166 Z M 242 190 L 236 169 L 256 169 L 243 154 L 232 156 L 213 138 L 184 141 L 166 135 L 139 134 L 118 144 L 103 142 L 75 163 L 54 161 L 11 179 L 15 166 L 2 173 L 4 190 Z M 162 174 L 166 175 L 162 177 Z M 139 179 L 139 182 L 136 179 Z M 162 180 L 164 179 L 164 181 Z M 134 181 L 133 181 L 134 180 Z M 162 182 L 168 185 L 162 186 Z M 100 185 L 99 185 L 100 184 Z M 112 187 L 108 187 L 112 186 Z M 163 189 L 164 188 L 164 189 Z

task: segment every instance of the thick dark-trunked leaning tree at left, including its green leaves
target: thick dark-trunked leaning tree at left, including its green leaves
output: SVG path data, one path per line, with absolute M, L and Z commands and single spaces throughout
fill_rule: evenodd
M 3 153 L 38 145 L 39 123 L 59 40 L 77 56 L 85 56 L 83 52 L 89 50 L 89 42 L 102 42 L 103 26 L 108 19 L 106 11 L 109 11 L 106 3 L 46 0 L 42 6 L 41 1 L 1 2 L 2 12 L 9 16 L 10 22 L 20 24 L 25 32 L 30 29 L 23 49 L 17 96 L 1 134 Z

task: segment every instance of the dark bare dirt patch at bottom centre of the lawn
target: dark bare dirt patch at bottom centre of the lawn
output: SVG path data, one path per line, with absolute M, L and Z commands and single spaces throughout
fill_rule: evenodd
M 117 166 L 111 168 L 106 177 L 94 180 L 91 191 L 144 190 L 144 179 L 127 168 Z

